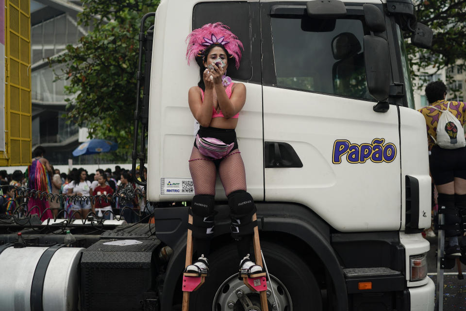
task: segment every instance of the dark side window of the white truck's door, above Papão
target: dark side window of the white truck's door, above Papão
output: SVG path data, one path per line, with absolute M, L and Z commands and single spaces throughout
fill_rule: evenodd
M 277 86 L 374 101 L 366 84 L 362 18 L 272 17 Z

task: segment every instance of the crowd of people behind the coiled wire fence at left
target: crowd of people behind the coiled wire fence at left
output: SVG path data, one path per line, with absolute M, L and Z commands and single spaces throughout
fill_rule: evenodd
M 149 214 L 151 206 L 145 198 L 145 190 L 133 181 L 140 178 L 139 167 L 134 174 L 119 166 L 113 171 L 110 168 L 97 169 L 90 174 L 84 168 L 61 173 L 50 165 L 44 154 L 41 146 L 35 148 L 32 164 L 26 172 L 17 170 L 8 174 L 0 171 L 0 215 L 38 214 L 44 221 L 53 218 L 86 219 L 93 212 L 95 215 L 92 216 L 99 219 L 113 220 L 119 215 L 128 223 L 135 223 L 141 216 Z M 147 180 L 145 167 L 142 173 Z M 19 187 L 53 196 L 22 195 L 23 191 L 17 191 Z M 57 200 L 59 194 L 73 197 Z M 92 196 L 94 199 L 91 200 Z

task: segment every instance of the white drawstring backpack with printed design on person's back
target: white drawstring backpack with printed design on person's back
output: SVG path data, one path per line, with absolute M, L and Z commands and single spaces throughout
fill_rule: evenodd
M 450 103 L 448 102 L 447 110 L 429 106 L 441 113 L 437 122 L 437 140 L 432 135 L 431 137 L 440 148 L 457 149 L 466 146 L 465 131 L 461 122 L 448 110 Z

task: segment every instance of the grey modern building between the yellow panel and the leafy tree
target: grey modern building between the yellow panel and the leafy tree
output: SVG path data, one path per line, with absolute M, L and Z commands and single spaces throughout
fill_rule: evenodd
M 64 118 L 66 80 L 56 80 L 62 65 L 49 65 L 49 59 L 77 45 L 90 27 L 78 25 L 79 1 L 31 0 L 31 100 L 32 148 L 41 145 L 53 164 L 67 164 L 79 146 L 79 128 Z

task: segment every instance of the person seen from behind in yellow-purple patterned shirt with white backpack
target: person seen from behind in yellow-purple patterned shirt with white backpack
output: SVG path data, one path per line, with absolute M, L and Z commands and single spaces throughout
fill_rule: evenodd
M 426 88 L 429 106 L 418 111 L 426 120 L 429 140 L 429 167 L 438 191 L 439 212 L 445 215 L 445 254 L 466 259 L 466 239 L 459 246 L 458 236 L 466 232 L 466 140 L 463 126 L 466 104 L 447 101 L 442 81 Z

